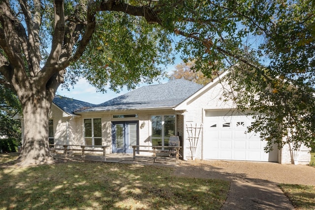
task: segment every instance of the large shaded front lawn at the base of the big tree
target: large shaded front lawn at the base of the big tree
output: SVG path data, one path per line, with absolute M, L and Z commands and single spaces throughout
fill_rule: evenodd
M 7 163 L 10 158 L 0 154 L 0 159 Z M 179 178 L 173 175 L 173 170 L 101 162 L 63 162 L 28 168 L 2 164 L 0 210 L 221 208 L 229 182 Z

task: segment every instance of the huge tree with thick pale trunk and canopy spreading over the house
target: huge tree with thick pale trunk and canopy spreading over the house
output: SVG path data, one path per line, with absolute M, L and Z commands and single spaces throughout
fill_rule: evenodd
M 233 96 L 235 101 L 254 105 L 247 92 L 263 98 L 268 90 L 260 102 L 312 121 L 314 29 L 313 0 L 1 0 L 0 84 L 15 91 L 22 105 L 21 159 L 49 159 L 47 115 L 65 81 L 85 77 L 103 91 L 134 88 L 163 76 L 161 66 L 172 62 L 172 52 L 184 62 L 195 60 L 195 70 L 208 77 L 244 64 L 250 70 L 229 78 L 231 84 L 243 84 L 238 90 L 247 90 L 248 99 Z M 303 120 L 283 126 L 264 107 L 253 110 L 270 119 L 273 129 L 300 131 Z M 34 124 L 38 128 L 31 132 Z M 257 119 L 257 124 L 268 130 L 266 121 Z M 296 145 L 314 142 L 314 126 L 306 124 L 304 133 L 291 140 Z M 265 138 L 272 142 L 272 134 Z

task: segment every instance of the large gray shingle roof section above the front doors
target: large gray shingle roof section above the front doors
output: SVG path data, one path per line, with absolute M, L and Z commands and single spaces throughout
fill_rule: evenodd
M 165 84 L 132 90 L 102 104 L 77 112 L 175 107 L 202 87 L 184 79 L 170 80 Z

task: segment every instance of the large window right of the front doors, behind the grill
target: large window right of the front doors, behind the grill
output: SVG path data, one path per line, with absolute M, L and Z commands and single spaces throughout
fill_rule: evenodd
M 152 145 L 168 146 L 169 137 L 175 135 L 175 115 L 152 116 Z

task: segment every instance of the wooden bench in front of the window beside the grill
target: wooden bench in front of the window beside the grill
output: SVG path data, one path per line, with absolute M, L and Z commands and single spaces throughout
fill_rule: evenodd
M 141 148 L 152 148 L 150 149 L 141 149 Z M 181 156 L 179 153 L 179 150 L 182 147 L 180 146 L 144 146 L 144 145 L 132 145 L 133 149 L 133 160 L 135 160 L 136 157 L 143 157 L 140 155 L 136 155 L 137 152 L 143 151 L 143 152 L 153 152 L 153 162 L 155 163 L 157 160 L 157 153 L 168 153 L 169 157 L 175 157 L 176 163 L 179 163 L 179 157 Z M 162 149 L 162 150 L 159 150 Z M 146 156 L 148 157 L 148 156 Z

